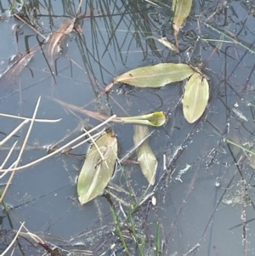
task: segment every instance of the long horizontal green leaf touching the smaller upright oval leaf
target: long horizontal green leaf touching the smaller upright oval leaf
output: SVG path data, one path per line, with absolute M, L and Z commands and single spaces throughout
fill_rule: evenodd
M 179 82 L 194 74 L 187 64 L 161 63 L 136 68 L 116 77 L 114 83 L 123 82 L 140 88 L 159 88 L 170 82 Z

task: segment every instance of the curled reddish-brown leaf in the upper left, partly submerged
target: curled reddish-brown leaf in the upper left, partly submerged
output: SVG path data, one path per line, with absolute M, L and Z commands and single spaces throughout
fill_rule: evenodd
M 70 35 L 75 25 L 76 19 L 64 20 L 57 31 L 54 31 L 47 40 L 45 45 L 45 54 L 48 58 L 48 64 L 54 70 L 54 60 L 56 56 L 62 51 L 67 37 Z

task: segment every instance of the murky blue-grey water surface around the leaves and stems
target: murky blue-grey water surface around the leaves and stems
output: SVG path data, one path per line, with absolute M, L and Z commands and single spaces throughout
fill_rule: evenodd
M 111 216 L 114 205 L 130 255 L 156 255 L 158 221 L 161 255 L 252 255 L 254 160 L 247 151 L 253 151 L 255 131 L 252 2 L 194 0 L 190 17 L 178 35 L 178 55 L 151 38 L 163 34 L 174 43 L 172 1 L 156 6 L 145 1 L 84 0 L 81 14 L 85 16 L 78 22 L 78 31 L 72 31 L 64 43 L 63 54 L 54 61 L 54 77 L 47 54 L 43 54 L 43 41 L 63 20 L 75 17 L 78 1 L 30 1 L 27 10 L 37 14 L 32 22 L 42 36 L 16 17 L 7 17 L 9 2 L 3 0 L 0 5 L 0 71 L 8 68 L 14 55 L 33 49 L 36 52 L 18 76 L 16 72 L 11 80 L 1 80 L 0 112 L 32 117 L 41 97 L 37 118 L 61 118 L 59 122 L 34 123 L 19 166 L 46 156 L 49 145 L 58 148 L 82 134 L 82 128 L 99 124 L 82 113 L 68 111 L 54 99 L 108 116 L 165 111 L 168 121 L 150 138 L 159 163 L 156 189 L 146 191 L 147 182 L 139 166 L 125 162 L 122 170 L 127 179 L 117 171 L 109 194 L 81 206 L 76 179 L 88 144 L 15 172 L 4 197 L 11 208 L 8 214 L 4 210 L 1 213 L 1 250 L 12 241 L 20 222 L 25 222 L 26 228 L 50 248 L 61 248 L 62 255 L 126 255 Z M 123 72 L 161 62 L 188 62 L 201 66 L 210 77 L 209 104 L 198 122 L 190 124 L 184 119 L 183 82 L 159 89 L 117 84 L 109 94 L 101 94 Z M 20 122 L 0 117 L 0 140 Z M 133 147 L 133 126 L 111 127 L 122 157 Z M 1 145 L 0 164 L 17 141 L 4 168 L 19 155 L 27 129 L 26 124 Z M 8 177 L 6 174 L 1 179 L 3 188 Z M 128 187 L 133 197 L 125 193 Z M 127 218 L 125 222 L 128 208 L 124 203 L 139 200 L 153 190 L 156 205 L 148 197 L 133 213 L 133 220 Z M 135 241 L 145 241 L 143 253 Z M 14 244 L 14 255 L 45 252 L 24 238 Z

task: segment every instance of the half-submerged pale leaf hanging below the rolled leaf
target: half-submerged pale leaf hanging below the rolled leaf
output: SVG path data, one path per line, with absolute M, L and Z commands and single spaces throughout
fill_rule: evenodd
M 144 140 L 144 138 L 147 137 L 148 133 L 148 127 L 142 125 L 135 125 L 133 143 L 135 146 L 139 145 L 136 152 L 142 172 L 150 185 L 154 185 L 156 181 L 157 161 L 155 154 L 150 148 L 148 139 Z M 141 144 L 141 141 L 143 140 L 144 142 Z

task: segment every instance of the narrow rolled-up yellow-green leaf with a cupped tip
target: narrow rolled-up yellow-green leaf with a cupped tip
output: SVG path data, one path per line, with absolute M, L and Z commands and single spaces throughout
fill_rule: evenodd
M 135 116 L 135 117 L 116 117 L 113 119 L 116 122 L 137 123 L 160 127 L 167 122 L 167 117 L 162 111 L 156 111 L 151 114 Z

